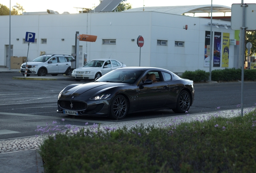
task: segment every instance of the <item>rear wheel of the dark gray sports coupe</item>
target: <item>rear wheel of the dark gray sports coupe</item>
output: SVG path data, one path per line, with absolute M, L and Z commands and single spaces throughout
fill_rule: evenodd
M 186 111 L 188 111 L 190 108 L 190 103 L 191 103 L 191 98 L 190 98 L 190 95 L 188 94 L 188 92 L 181 91 L 178 96 L 176 108 L 173 109 L 173 112 L 186 113 Z

